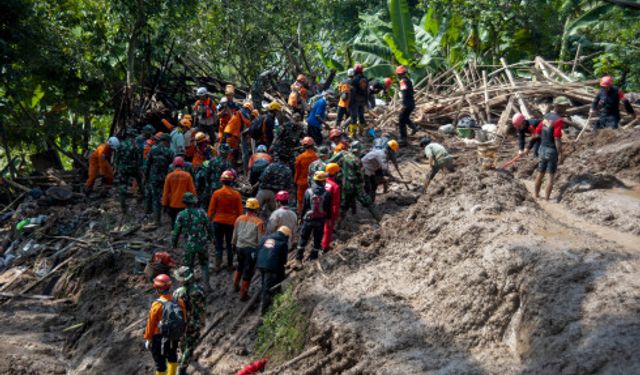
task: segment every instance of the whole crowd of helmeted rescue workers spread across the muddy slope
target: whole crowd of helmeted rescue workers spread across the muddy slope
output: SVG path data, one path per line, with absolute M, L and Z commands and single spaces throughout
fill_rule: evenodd
M 356 64 L 339 83 L 337 94 L 325 90 L 310 98 L 307 78 L 299 75 L 287 101 L 291 116 L 283 113 L 285 109 L 277 101 L 269 103 L 264 113 L 251 101 L 237 103 L 231 85 L 216 105 L 201 87 L 192 113 L 184 114 L 175 125 L 162 121 L 168 132 L 156 132 L 153 125 L 144 126 L 140 135 L 128 129 L 119 138 L 109 138 L 91 155 L 88 192 L 98 176 L 110 185 L 115 174 L 126 215 L 128 191 L 135 182 L 144 197 L 146 217 L 161 227 L 162 213 L 166 213 L 172 248 L 183 240 L 183 266 L 173 278 L 168 268 L 150 275 L 159 298 L 152 304 L 144 338 L 157 374 L 168 371 L 173 375 L 178 368 L 181 374 L 186 373 L 205 319 L 212 242 L 213 271 L 233 272 L 230 284 L 241 301 L 249 299 L 251 280 L 256 269 L 260 271 L 260 311 L 264 313 L 285 279 L 285 265 L 293 249 L 293 269 L 303 267 L 309 242 L 308 260 L 330 251 L 334 229 L 349 212 L 356 212 L 356 202 L 380 220 L 374 206 L 376 191 L 381 184 L 386 191 L 387 181 L 404 182 L 396 153 L 408 144 L 407 128 L 417 130 L 410 120 L 415 108 L 413 84 L 403 66 L 396 74 L 402 102 L 398 141 L 389 134 L 377 134 L 367 126 L 364 115 L 365 108 L 375 106 L 375 96 L 384 95 L 393 80 L 369 81 L 362 66 Z M 616 127 L 618 102 L 624 96 L 613 87 L 610 77 L 603 78 L 601 86 L 593 107 L 595 110 L 604 103 L 598 126 Z M 337 116 L 332 125 L 327 111 L 334 100 Z M 543 111 L 543 119 L 525 119 L 521 114 L 513 118 L 519 154 L 534 150 L 540 158 L 536 196 L 542 178 L 549 174 L 547 198 L 563 158 L 562 115 L 569 102 L 559 97 L 552 104 L 553 108 Z M 532 139 L 525 147 L 526 133 L 531 133 Z M 364 147 L 367 138 L 372 140 L 369 149 Z M 420 147 L 431 167 L 426 189 L 439 170 L 453 169 L 453 158 L 428 137 L 420 141 Z M 391 164 L 399 178 L 391 174 Z M 248 181 L 242 193 L 238 189 L 241 175 Z M 152 261 L 175 266 L 169 254 L 158 254 L 162 256 L 154 256 Z M 199 281 L 196 263 L 201 269 Z M 173 280 L 182 286 L 172 295 Z

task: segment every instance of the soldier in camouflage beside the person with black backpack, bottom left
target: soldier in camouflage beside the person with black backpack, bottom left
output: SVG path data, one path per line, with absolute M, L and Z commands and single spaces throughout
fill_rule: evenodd
M 186 375 L 193 351 L 200 340 L 200 329 L 207 317 L 207 299 L 204 289 L 195 282 L 193 270 L 182 266 L 173 277 L 182 284 L 173 292 L 174 301 L 182 300 L 187 314 L 187 327 L 180 342 L 180 375 Z

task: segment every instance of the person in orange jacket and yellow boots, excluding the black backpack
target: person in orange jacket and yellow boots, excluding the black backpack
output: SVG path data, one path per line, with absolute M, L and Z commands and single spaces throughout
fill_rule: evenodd
M 184 301 L 174 301 L 171 295 L 171 278 L 166 274 L 160 274 L 153 279 L 153 288 L 159 298 L 151 303 L 147 328 L 144 331 L 144 346 L 151 351 L 151 356 L 156 365 L 156 375 L 175 375 L 178 370 L 178 343 L 163 337 L 160 331 L 160 322 L 164 309 L 179 309 L 182 311 L 183 322 L 187 320 Z

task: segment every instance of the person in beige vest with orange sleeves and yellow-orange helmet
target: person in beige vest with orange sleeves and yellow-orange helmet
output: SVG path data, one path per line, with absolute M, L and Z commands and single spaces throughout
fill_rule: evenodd
M 233 273 L 233 289 L 236 292 L 240 291 L 240 301 L 249 299 L 249 286 L 256 268 L 258 246 L 265 231 L 264 221 L 257 215 L 260 208 L 258 200 L 249 198 L 244 207 L 246 213 L 236 219 L 231 239 L 238 257 L 238 266 Z M 242 279 L 242 286 L 240 286 L 240 279 Z

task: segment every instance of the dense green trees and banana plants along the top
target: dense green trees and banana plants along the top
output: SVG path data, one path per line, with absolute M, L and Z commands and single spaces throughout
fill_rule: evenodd
M 127 94 L 171 69 L 248 87 L 274 68 L 322 80 L 362 62 L 414 78 L 468 59 L 589 56 L 579 73 L 640 82 L 637 1 L 5 0 L 0 3 L 0 137 L 5 156 L 82 153 L 110 131 Z M 178 74 L 177 72 L 173 72 Z M 197 82 L 193 82 L 197 84 Z M 146 91 L 145 91 L 146 90 Z M 191 100 L 178 97 L 178 104 Z M 171 95 L 171 93 L 169 93 Z M 6 165 L 8 158 L 3 157 Z M 6 168 L 5 168 L 6 172 Z

